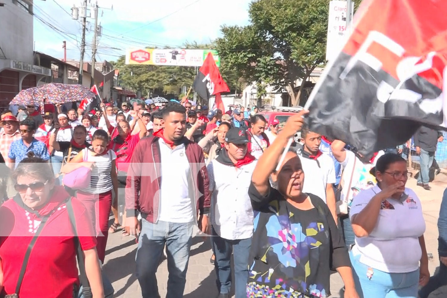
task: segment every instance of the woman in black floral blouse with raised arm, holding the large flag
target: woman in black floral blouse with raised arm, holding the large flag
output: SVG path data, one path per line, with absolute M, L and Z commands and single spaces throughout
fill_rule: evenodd
M 287 120 L 253 172 L 249 187 L 255 213 L 249 298 L 328 297 L 331 257 L 345 283 L 344 297 L 358 298 L 348 252 L 329 208 L 319 197 L 301 191 L 305 173 L 299 157 L 287 152 L 275 171 L 288 139 L 301 129 L 305 113 Z M 278 189 L 271 187 L 270 175 Z

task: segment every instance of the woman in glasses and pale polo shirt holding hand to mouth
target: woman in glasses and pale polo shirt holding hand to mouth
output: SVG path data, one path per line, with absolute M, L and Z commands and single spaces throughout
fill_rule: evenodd
M 430 273 L 421 202 L 405 187 L 407 162 L 388 153 L 371 172 L 377 185 L 359 192 L 350 209 L 355 234 L 350 259 L 358 294 L 416 298 L 418 286 L 427 284 Z

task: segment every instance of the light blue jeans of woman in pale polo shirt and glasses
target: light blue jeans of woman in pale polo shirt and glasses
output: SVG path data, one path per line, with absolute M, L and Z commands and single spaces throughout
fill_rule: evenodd
M 419 269 L 409 273 L 386 273 L 373 269 L 371 279 L 367 277 L 369 266 L 359 262 L 360 254 L 351 259 L 355 289 L 360 298 L 416 298 L 419 284 Z

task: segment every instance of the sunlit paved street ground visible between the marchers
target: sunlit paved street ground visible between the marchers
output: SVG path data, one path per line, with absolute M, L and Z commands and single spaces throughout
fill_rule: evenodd
M 430 273 L 433 274 L 439 265 L 437 220 L 442 194 L 447 186 L 447 176 L 443 173 L 439 174 L 431 186 L 432 190 L 426 191 L 421 187 L 417 187 L 414 179 L 409 179 L 407 184 L 407 187 L 415 190 L 422 201 L 426 220 L 425 239 L 427 251 L 433 255 L 433 259 L 429 263 L 429 269 Z M 115 297 L 141 297 L 139 283 L 135 277 L 135 252 L 135 239 L 131 237 L 123 238 L 120 232 L 109 235 L 104 271 L 113 283 Z M 398 253 L 398 251 L 396 250 L 395 253 Z M 214 266 L 209 261 L 210 257 L 211 247 L 209 241 L 204 241 L 201 236 L 194 237 L 186 277 L 185 298 L 214 298 L 217 295 Z M 160 265 L 157 279 L 160 295 L 164 298 L 168 280 L 166 261 Z M 342 286 L 340 276 L 337 273 L 333 273 L 331 276 L 331 298 L 343 297 L 341 292 Z M 438 292 L 433 293 L 430 298 L 447 297 L 447 290 Z

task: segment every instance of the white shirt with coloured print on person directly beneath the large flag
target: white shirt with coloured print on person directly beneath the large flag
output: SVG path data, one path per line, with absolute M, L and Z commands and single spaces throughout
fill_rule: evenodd
M 343 167 L 343 189 L 342 200 L 348 198 L 348 205 L 350 206 L 352 199 L 357 195 L 360 190 L 370 189 L 375 185 L 375 177 L 370 174 L 371 168 L 375 166 L 377 159 L 384 155 L 384 151 L 379 151 L 375 156 L 373 163 L 363 163 L 352 151 L 346 150 L 345 161 L 340 163 Z M 355 160 L 355 169 L 354 169 Z M 351 187 L 349 182 L 352 176 Z

